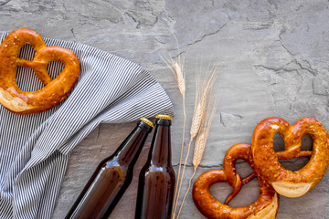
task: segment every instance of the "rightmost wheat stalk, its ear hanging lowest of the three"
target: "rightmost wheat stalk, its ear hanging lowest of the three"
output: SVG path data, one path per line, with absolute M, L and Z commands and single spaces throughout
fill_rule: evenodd
M 198 133 L 197 137 L 196 137 L 195 150 L 194 150 L 194 156 L 193 156 L 194 172 L 188 181 L 188 188 L 187 188 L 186 194 L 184 195 L 183 201 L 180 205 L 180 208 L 179 208 L 179 211 L 177 214 L 177 218 L 179 218 L 179 215 L 182 211 L 184 202 L 186 200 L 187 193 L 189 192 L 189 190 L 191 188 L 191 182 L 192 182 L 193 177 L 196 174 L 196 168 L 198 167 L 198 165 L 200 164 L 200 162 L 202 160 L 202 156 L 205 151 L 205 147 L 206 147 L 206 143 L 207 143 L 207 135 L 210 130 L 212 120 L 214 120 L 216 110 L 218 107 L 218 99 L 216 99 L 216 101 L 214 101 L 212 105 L 211 105 L 211 101 L 210 101 L 211 100 L 211 97 L 210 97 L 211 90 L 212 90 L 214 81 L 217 78 L 217 75 L 218 75 L 217 67 L 211 68 L 210 70 L 209 70 L 209 68 L 207 68 L 207 77 L 205 78 L 205 80 L 202 84 L 201 97 L 200 97 L 200 100 L 198 103 L 198 104 L 200 104 L 201 109 L 202 109 L 202 116 L 201 116 L 201 118 L 197 118 L 197 124 L 199 125 L 199 127 L 197 129 L 198 131 L 194 130 L 193 132 L 191 131 L 191 133 L 190 133 L 191 134 L 190 142 L 192 142 L 193 139 L 195 138 L 195 136 L 193 136 L 192 133 Z M 197 107 L 196 107 L 196 109 L 197 109 Z M 195 112 L 197 112 L 197 111 L 195 111 Z M 209 115 L 209 113 L 210 113 L 210 115 Z M 196 116 L 196 114 L 194 116 Z M 192 124 L 193 124 L 193 122 L 192 122 Z M 196 127 L 193 127 L 193 128 L 196 128 Z M 192 130 L 192 127 L 191 127 L 191 130 Z M 189 151 L 189 148 L 187 151 Z M 184 176 L 185 166 L 186 166 L 186 163 L 183 168 L 181 181 Z

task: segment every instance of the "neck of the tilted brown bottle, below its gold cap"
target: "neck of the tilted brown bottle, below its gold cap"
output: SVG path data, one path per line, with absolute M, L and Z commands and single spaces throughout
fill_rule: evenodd
M 145 124 L 143 124 L 145 125 Z M 152 130 L 152 128 L 151 128 Z M 121 166 L 133 166 L 142 151 L 150 130 L 148 127 L 137 126 L 115 151 L 115 157 Z

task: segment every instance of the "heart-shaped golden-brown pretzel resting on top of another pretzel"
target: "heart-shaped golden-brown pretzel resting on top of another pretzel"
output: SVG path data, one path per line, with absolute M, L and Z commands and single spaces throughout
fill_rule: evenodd
M 281 135 L 285 151 L 274 152 L 273 138 L 276 133 Z M 312 157 L 301 170 L 288 171 L 278 159 L 287 160 L 309 153 L 301 151 L 305 134 L 313 138 Z M 298 120 L 293 126 L 280 118 L 262 120 L 253 132 L 251 145 L 255 172 L 270 183 L 277 193 L 287 197 L 300 197 L 310 191 L 321 181 L 328 167 L 328 133 L 319 121 L 311 118 Z

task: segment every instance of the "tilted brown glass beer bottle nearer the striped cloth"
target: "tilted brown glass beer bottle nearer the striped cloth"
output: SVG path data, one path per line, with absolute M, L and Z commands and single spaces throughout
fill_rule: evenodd
M 133 165 L 154 124 L 142 118 L 120 147 L 103 160 L 70 209 L 71 218 L 108 218 L 133 179 Z

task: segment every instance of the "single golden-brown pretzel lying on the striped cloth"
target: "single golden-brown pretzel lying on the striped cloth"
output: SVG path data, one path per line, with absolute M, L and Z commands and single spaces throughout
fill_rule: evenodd
M 36 50 L 32 61 L 18 58 L 21 47 L 26 44 Z M 64 64 L 64 69 L 55 79 L 48 75 L 50 61 Z M 17 66 L 34 69 L 45 87 L 35 91 L 19 89 L 16 83 Z M 33 30 L 16 29 L 0 45 L 0 103 L 11 112 L 32 114 L 57 106 L 69 95 L 79 75 L 80 62 L 73 52 L 64 47 L 47 47 Z

